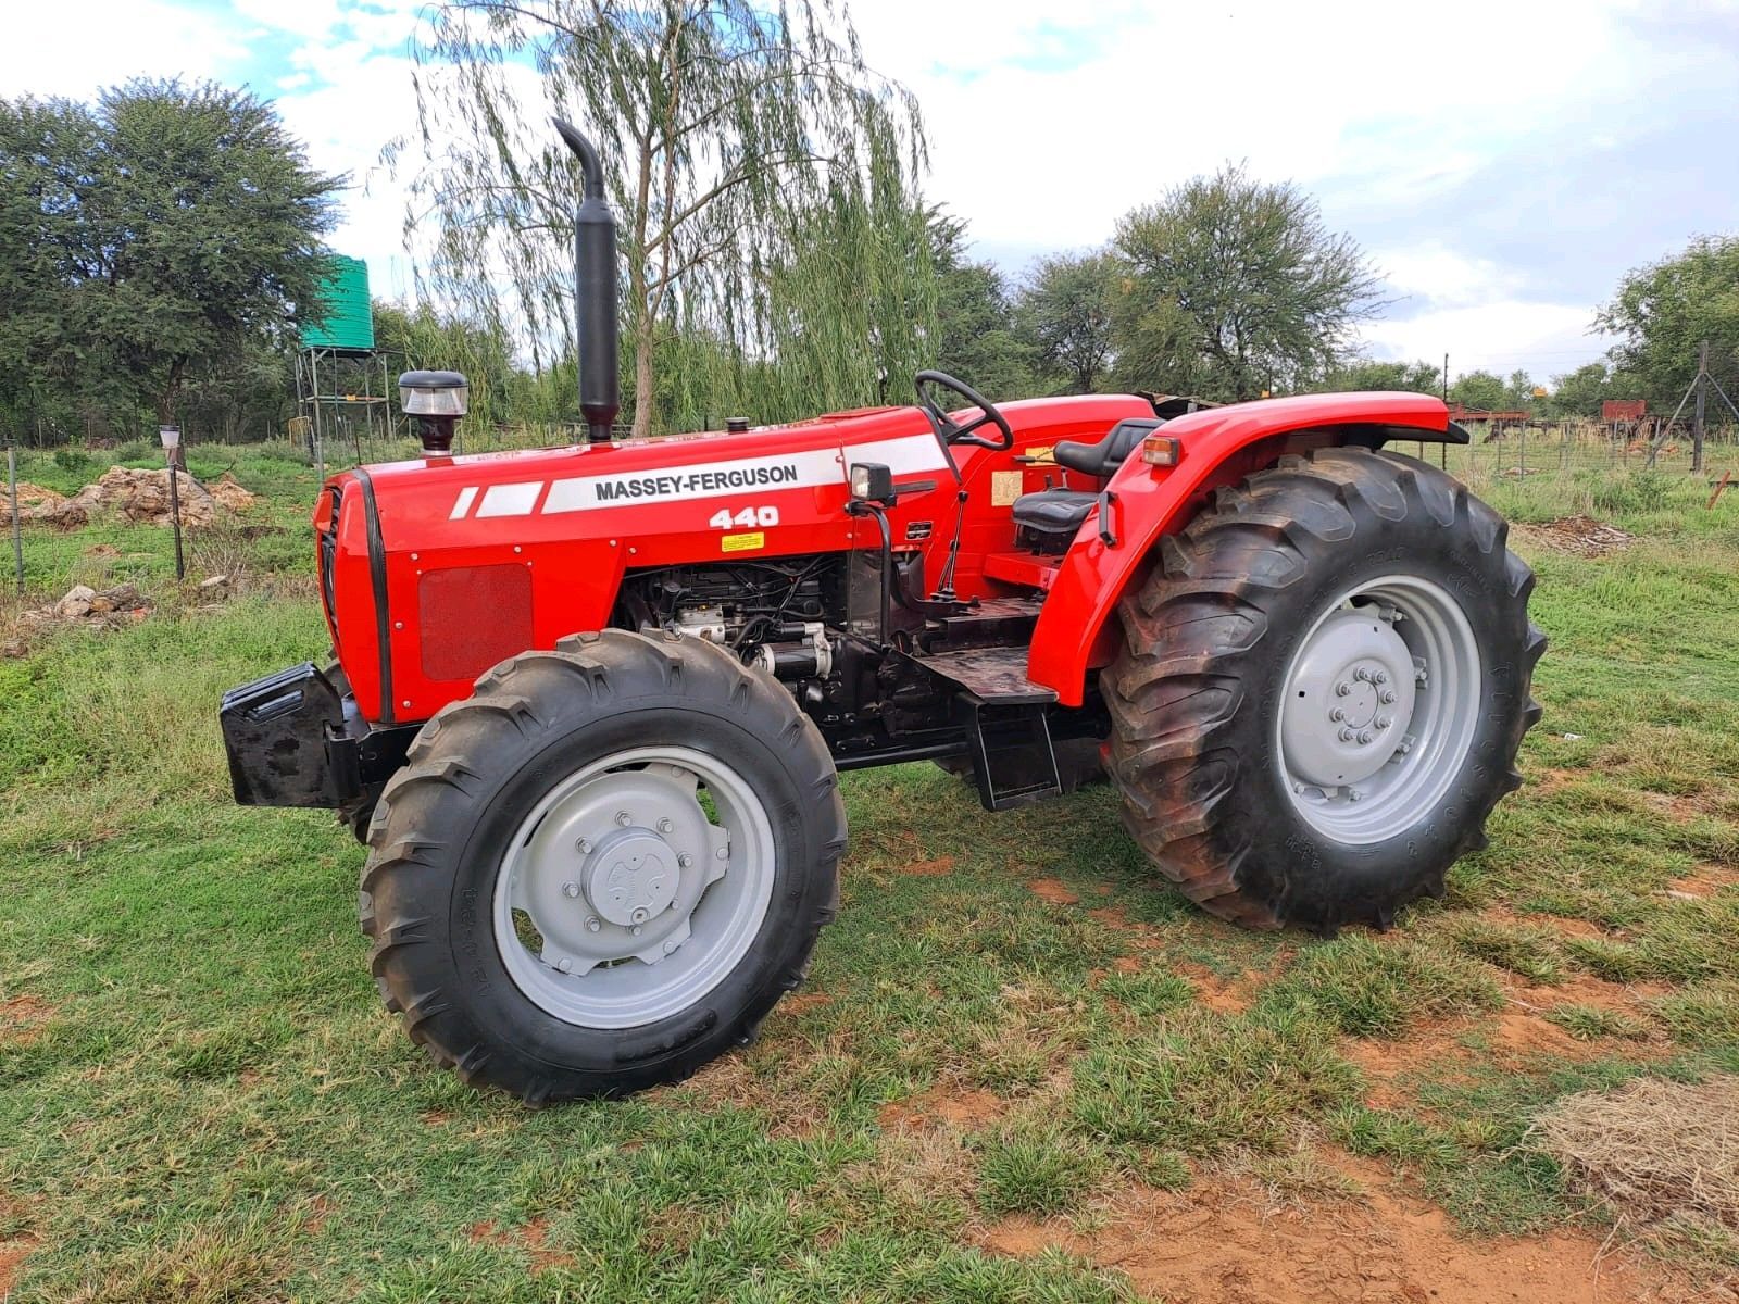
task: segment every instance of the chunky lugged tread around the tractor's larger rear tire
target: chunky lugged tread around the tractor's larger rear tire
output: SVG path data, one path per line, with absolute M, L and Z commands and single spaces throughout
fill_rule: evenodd
M 1502 516 L 1428 462 L 1393 452 L 1318 449 L 1217 489 L 1179 534 L 1160 541 L 1149 579 L 1118 603 L 1125 638 L 1101 673 L 1101 690 L 1113 723 L 1109 768 L 1123 793 L 1123 824 L 1191 901 L 1247 927 L 1275 928 L 1297 920 L 1283 904 L 1259 901 L 1243 888 L 1249 843 L 1228 842 L 1228 831 L 1217 828 L 1226 819 L 1217 808 L 1231 795 L 1240 765 L 1224 742 L 1243 697 L 1238 659 L 1269 635 L 1264 593 L 1283 589 L 1285 582 L 1276 581 L 1308 569 L 1301 548 L 1306 536 L 1323 544 L 1351 539 L 1355 504 L 1386 520 L 1403 520 L 1417 504 L 1436 527 L 1466 530 L 1482 553 L 1506 548 Z M 1508 549 L 1502 567 L 1509 596 L 1525 602 L 1532 570 Z M 1242 628 L 1228 619 L 1235 612 L 1249 617 Z M 1523 687 L 1546 647 L 1537 628 L 1527 629 Z M 1228 631 L 1240 636 L 1228 638 Z M 1217 701 L 1209 701 L 1205 685 L 1217 685 Z M 1530 697 L 1515 746 L 1537 720 L 1539 704 Z M 1513 768 L 1515 746 L 1497 795 L 1466 822 L 1462 854 L 1485 847 L 1492 805 L 1522 781 Z M 1442 895 L 1442 873 L 1423 890 Z M 1402 904 L 1355 902 L 1344 918 L 1308 923 L 1327 934 L 1353 921 L 1388 927 Z

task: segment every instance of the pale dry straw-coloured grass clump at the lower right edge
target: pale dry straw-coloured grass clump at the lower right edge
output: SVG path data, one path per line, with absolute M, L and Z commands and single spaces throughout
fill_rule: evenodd
M 1567 1095 L 1530 1137 L 1628 1231 L 1739 1233 L 1739 1078 L 1638 1078 Z M 1722 1234 L 1727 1233 L 1727 1234 Z

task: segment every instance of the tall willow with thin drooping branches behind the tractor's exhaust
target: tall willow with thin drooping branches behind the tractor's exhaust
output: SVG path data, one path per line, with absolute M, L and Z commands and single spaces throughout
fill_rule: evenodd
M 885 219 L 915 202 L 922 123 L 911 96 L 863 63 L 843 9 L 454 0 L 426 17 L 417 64 L 428 167 L 405 226 L 426 249 L 419 273 L 470 316 L 513 322 L 534 365 L 574 344 L 579 177 L 550 130 L 556 113 L 610 174 L 635 435 L 663 424 L 661 393 L 685 395 L 671 416 L 716 417 L 718 388 L 734 398 L 744 369 L 796 341 L 831 336 L 831 360 L 873 384 L 864 339 L 828 322 L 838 301 L 824 278 L 772 289 L 776 269 L 803 263 L 816 221 L 866 282 L 909 266 L 906 223 Z M 388 156 L 407 156 L 403 143 Z M 920 337 L 922 323 L 892 334 Z M 711 358 L 718 384 L 661 384 L 661 349 Z

